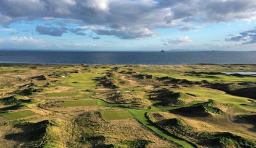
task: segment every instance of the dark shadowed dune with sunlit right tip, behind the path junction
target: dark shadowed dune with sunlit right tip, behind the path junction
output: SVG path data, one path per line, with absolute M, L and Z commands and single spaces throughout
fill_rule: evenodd
M 173 92 L 168 89 L 160 89 L 152 91 L 150 99 L 157 101 L 154 105 L 170 106 L 170 105 L 184 105 L 192 98 L 191 95 L 183 92 Z

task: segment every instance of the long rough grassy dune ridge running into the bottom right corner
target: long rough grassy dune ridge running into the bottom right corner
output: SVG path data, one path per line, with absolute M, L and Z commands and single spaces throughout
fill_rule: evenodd
M 196 143 L 202 147 L 255 147 L 255 141 L 231 133 L 197 131 L 181 118 L 168 118 L 161 112 L 148 113 L 147 117 L 168 133 Z

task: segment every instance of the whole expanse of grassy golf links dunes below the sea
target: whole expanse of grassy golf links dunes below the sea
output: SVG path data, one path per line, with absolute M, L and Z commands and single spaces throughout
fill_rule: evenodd
M 0 66 L 0 147 L 256 147 L 256 65 Z

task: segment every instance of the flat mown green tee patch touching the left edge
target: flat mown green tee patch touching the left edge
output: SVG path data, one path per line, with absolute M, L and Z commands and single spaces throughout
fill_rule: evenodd
M 23 110 L 20 112 L 10 112 L 10 113 L 2 113 L 1 116 L 7 119 L 18 119 L 18 118 L 25 118 L 29 117 L 31 115 L 36 115 L 35 112 L 32 112 L 31 110 Z

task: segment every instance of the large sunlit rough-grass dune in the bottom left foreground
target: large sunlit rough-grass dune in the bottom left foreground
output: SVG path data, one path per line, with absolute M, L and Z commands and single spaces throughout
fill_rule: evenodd
M 66 125 L 67 123 L 60 119 L 22 123 L 17 125 L 17 128 L 21 128 L 23 132 L 9 134 L 6 139 L 20 141 L 22 147 L 65 147 Z

